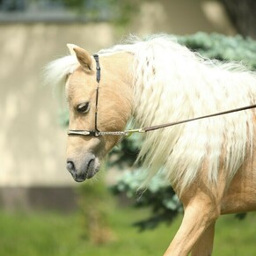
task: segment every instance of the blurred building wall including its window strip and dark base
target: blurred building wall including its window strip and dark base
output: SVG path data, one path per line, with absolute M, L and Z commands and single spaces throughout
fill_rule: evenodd
M 102 5 L 107 1 L 99 1 L 99 6 L 97 1 L 84 1 L 89 3 L 84 11 L 66 2 L 0 1 L 2 208 L 75 207 L 76 184 L 65 168 L 66 131 L 59 122 L 60 106 L 53 88 L 40 83 L 41 69 L 68 54 L 67 43 L 92 54 L 129 33 L 237 33 L 225 5 L 218 1 L 134 0 L 123 9 Z M 118 11 L 123 11 L 123 19 L 115 18 Z

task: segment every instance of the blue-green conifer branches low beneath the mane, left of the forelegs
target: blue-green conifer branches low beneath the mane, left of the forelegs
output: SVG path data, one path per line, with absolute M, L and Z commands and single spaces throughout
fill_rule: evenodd
M 125 193 L 128 198 L 135 198 L 135 207 L 151 208 L 153 216 L 135 223 L 140 230 L 154 229 L 163 221 L 171 223 L 172 218 L 182 211 L 177 195 L 161 176 L 152 179 L 146 190 L 138 190 L 145 179 L 143 170 L 126 172 L 120 182 L 112 187 L 114 194 Z

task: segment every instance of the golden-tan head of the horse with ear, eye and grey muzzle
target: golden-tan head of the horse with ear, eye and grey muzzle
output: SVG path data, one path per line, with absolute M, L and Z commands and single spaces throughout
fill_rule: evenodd
M 99 171 L 101 161 L 121 138 L 117 135 L 98 136 L 95 131 L 121 131 L 131 115 L 132 89 L 128 72 L 131 55 L 99 56 L 99 82 L 96 79 L 97 63 L 91 55 L 75 45 L 68 47 L 79 63 L 66 83 L 69 130 L 94 133 L 70 134 L 68 137 L 67 169 L 76 181 L 81 182 Z

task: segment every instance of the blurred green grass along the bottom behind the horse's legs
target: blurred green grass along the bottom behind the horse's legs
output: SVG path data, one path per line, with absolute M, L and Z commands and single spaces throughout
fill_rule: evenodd
M 140 233 L 131 223 L 147 214 L 144 210 L 114 207 L 109 216 L 113 242 L 92 245 L 83 238 L 77 214 L 0 212 L 0 255 L 163 255 L 182 216 L 170 226 Z M 221 217 L 216 225 L 214 255 L 256 255 L 256 214 L 249 214 L 243 221 L 234 216 Z

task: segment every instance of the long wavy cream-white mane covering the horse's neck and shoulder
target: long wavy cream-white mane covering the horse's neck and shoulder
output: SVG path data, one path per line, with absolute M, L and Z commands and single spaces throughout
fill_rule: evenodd
M 139 126 L 255 103 L 252 72 L 235 63 L 203 59 L 170 36 L 135 39 L 99 53 L 118 51 L 135 55 L 134 115 Z M 149 177 L 165 172 L 180 190 L 200 175 L 202 166 L 208 166 L 208 181 L 216 182 L 221 161 L 229 182 L 252 150 L 252 116 L 252 111 L 231 113 L 150 132 L 139 157 L 149 168 Z

